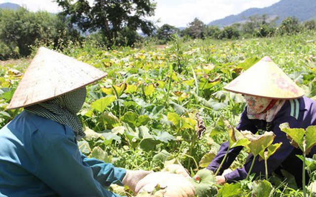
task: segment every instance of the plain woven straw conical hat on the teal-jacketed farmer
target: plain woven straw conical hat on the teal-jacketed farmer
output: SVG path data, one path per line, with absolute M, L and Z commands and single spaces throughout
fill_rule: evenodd
M 40 47 L 7 109 L 36 104 L 71 92 L 106 76 L 69 56 Z

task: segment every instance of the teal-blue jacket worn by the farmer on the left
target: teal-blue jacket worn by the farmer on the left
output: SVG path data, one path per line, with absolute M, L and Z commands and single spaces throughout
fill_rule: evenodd
M 23 111 L 0 130 L 0 197 L 119 197 L 126 170 L 78 149 L 68 126 Z

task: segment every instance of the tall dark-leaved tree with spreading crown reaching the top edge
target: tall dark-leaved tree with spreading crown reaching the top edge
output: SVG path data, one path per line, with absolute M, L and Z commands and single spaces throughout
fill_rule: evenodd
M 141 29 L 147 35 L 154 30 L 154 24 L 145 17 L 154 15 L 156 3 L 151 0 L 55 0 L 63 8 L 63 14 L 70 17 L 82 31 L 100 30 L 110 44 L 119 31 Z

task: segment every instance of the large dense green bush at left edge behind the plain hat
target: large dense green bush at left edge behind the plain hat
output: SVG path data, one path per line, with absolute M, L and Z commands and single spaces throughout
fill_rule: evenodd
M 68 40 L 80 37 L 67 19 L 46 11 L 29 12 L 25 8 L 0 10 L 1 58 L 31 54 L 32 45 L 50 45 L 62 49 Z M 5 45 L 5 46 L 4 46 Z

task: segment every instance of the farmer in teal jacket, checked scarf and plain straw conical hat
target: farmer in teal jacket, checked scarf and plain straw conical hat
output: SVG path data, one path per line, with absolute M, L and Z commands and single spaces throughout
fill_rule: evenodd
M 147 184 L 145 179 L 136 190 L 142 178 L 155 173 L 117 168 L 78 149 L 84 132 L 77 113 L 85 86 L 104 76 L 93 66 L 39 49 L 7 107 L 25 110 L 0 130 L 0 196 L 118 197 L 105 187 L 115 183 L 138 192 Z M 167 190 L 194 196 L 184 176 L 164 176 L 182 183 Z

